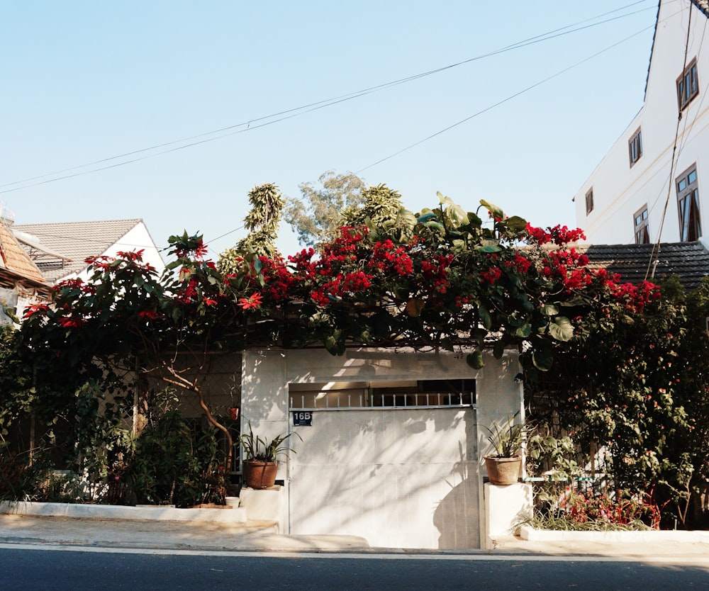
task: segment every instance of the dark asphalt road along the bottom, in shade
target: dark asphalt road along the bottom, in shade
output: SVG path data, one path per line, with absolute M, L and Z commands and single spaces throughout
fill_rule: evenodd
M 709 589 L 709 565 L 598 558 L 273 555 L 0 548 L 3 591 Z

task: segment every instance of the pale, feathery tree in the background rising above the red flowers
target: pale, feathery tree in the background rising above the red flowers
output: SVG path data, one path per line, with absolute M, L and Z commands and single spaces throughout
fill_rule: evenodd
M 352 172 L 336 174 L 328 170 L 320 175 L 318 184 L 298 185 L 302 198 L 287 198 L 284 210 L 284 220 L 298 235 L 298 242 L 311 247 L 335 237 L 342 217 L 348 217 L 365 201 L 362 191 L 366 185 Z

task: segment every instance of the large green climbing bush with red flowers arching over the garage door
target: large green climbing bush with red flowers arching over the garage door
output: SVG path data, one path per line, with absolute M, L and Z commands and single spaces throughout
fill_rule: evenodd
M 637 356 L 652 366 L 647 375 L 659 384 L 664 360 L 681 355 L 681 347 L 672 348 L 674 339 L 660 345 L 662 323 L 681 324 L 681 313 L 668 316 L 674 304 L 661 298 L 657 285 L 623 283 L 603 269 L 590 269 L 574 248 L 583 238 L 580 230 L 532 227 L 487 201 L 469 211 L 439 194 L 436 206 L 413 213 L 386 186 L 363 195 L 364 205 L 347 211 L 335 237 L 289 257 L 272 247 L 282 201 L 269 185 L 250 193 L 247 227 L 253 240 L 229 249 L 218 264 L 208 259 L 201 237 L 187 232 L 170 238 L 171 259 L 162 276 L 140 252 L 91 259 L 90 281 L 61 283 L 52 305 L 30 308 L 21 330 L 9 337 L 8 352 L 0 356 L 0 364 L 11 367 L 0 377 L 0 391 L 9 393 L 0 424 L 26 416 L 39 400 L 49 410 L 62 408 L 86 379 L 101 381 L 106 393 L 125 388 L 123 376 L 138 368 L 194 393 L 230 450 L 229 430 L 203 392 L 214 351 L 318 344 L 335 355 L 362 345 L 446 349 L 465 354 L 471 368 L 479 369 L 484 349 L 499 357 L 513 347 L 530 400 L 546 396 L 567 427 L 581 426 L 584 437 L 610 443 L 614 458 L 627 451 L 636 464 L 654 466 L 657 460 L 652 479 L 667 475 L 660 447 L 655 441 L 649 447 L 654 432 L 637 426 L 644 448 L 657 456 L 639 455 L 638 443 L 628 450 L 613 444 L 617 435 L 626 439 L 622 429 L 616 433 L 618 402 L 608 371 Z M 642 341 L 647 327 L 666 352 L 663 361 Z M 598 351 L 603 353 L 596 357 Z M 180 366 L 174 363 L 178 357 Z M 621 382 L 630 396 L 637 390 L 637 363 L 628 368 Z M 62 381 L 60 374 L 71 377 Z M 665 436 L 679 437 L 691 426 L 683 423 L 686 410 L 656 385 L 644 400 L 650 395 L 672 409 L 675 421 Z M 638 410 L 637 404 L 630 408 Z M 637 432 L 632 417 L 626 423 Z M 693 466 L 697 461 L 688 460 Z M 230 464 L 229 456 L 227 469 Z M 677 490 L 679 480 L 665 480 L 668 490 Z M 644 478 L 640 485 L 648 483 Z

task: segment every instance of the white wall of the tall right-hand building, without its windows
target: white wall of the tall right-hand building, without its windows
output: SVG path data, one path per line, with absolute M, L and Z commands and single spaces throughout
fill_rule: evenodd
M 679 125 L 674 169 L 671 160 L 677 130 L 676 80 L 682 73 L 691 6 L 687 63 L 698 62 L 699 96 L 684 109 Z M 703 235 L 709 236 L 709 19 L 688 0 L 662 0 L 652 47 L 652 63 L 644 104 L 623 130 L 593 174 L 574 196 L 576 225 L 595 244 L 630 244 L 635 241 L 633 214 L 647 203 L 650 240 L 659 236 L 668 196 L 662 242 L 679 242 L 679 215 L 674 182 L 677 176 L 697 164 L 700 215 Z M 648 55 L 649 55 L 648 48 Z M 637 64 L 644 69 L 647 64 Z M 638 97 L 640 105 L 642 97 Z M 630 167 L 628 140 L 642 129 L 642 157 Z M 583 138 L 580 138 L 583 141 Z M 610 138 L 609 138 L 610 140 Z M 594 209 L 586 215 L 586 193 L 593 187 Z

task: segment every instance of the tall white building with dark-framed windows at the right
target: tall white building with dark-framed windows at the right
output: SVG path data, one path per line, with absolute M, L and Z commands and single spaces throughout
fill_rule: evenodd
M 588 242 L 709 238 L 708 95 L 709 0 L 660 0 L 643 106 L 574 197 Z

